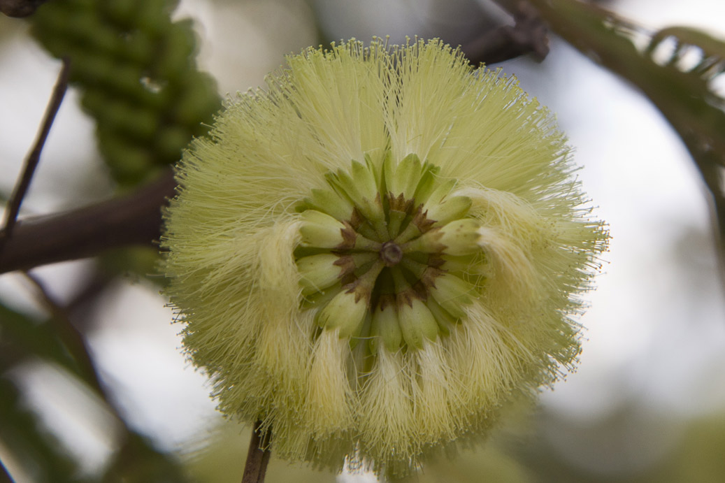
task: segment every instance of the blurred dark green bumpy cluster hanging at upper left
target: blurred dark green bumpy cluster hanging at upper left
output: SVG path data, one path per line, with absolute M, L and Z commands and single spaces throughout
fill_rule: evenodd
M 120 186 L 181 157 L 220 107 L 214 80 L 196 69 L 191 20 L 172 22 L 173 0 L 55 0 L 33 33 L 68 57 L 70 81 L 96 120 L 99 149 Z

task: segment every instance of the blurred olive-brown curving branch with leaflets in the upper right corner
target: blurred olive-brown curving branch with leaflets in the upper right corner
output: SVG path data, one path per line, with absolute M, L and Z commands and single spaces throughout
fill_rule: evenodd
M 725 275 L 725 98 L 714 88 L 725 72 L 725 42 L 692 28 L 650 33 L 579 0 L 529 2 L 555 33 L 637 86 L 679 134 L 710 191 Z M 497 3 L 512 9 L 508 1 Z M 638 48 L 638 41 L 646 46 Z M 674 46 L 662 55 L 666 41 Z

